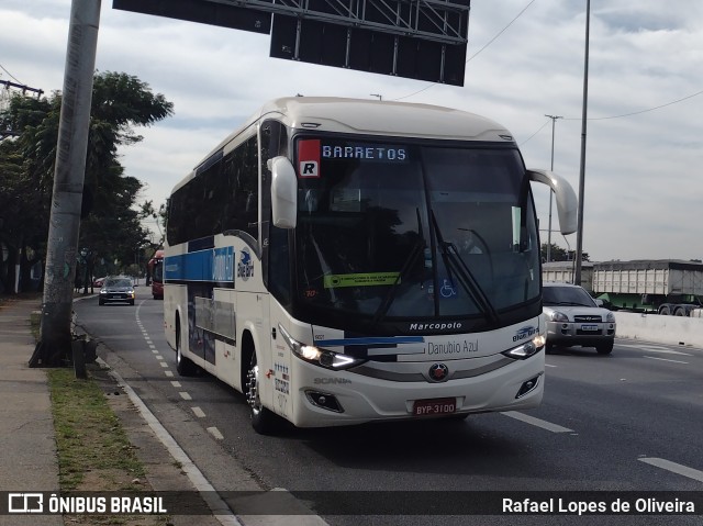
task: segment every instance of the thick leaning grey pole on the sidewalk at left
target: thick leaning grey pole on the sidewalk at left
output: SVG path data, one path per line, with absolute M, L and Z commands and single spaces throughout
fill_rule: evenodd
M 71 2 L 40 342 L 30 359 L 30 367 L 57 367 L 72 352 L 70 318 L 100 3 L 101 0 Z

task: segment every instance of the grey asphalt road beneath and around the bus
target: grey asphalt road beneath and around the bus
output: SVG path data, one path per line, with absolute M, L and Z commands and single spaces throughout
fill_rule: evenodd
M 147 293 L 137 288 L 135 306 L 77 302 L 78 322 L 101 340 L 101 352 L 136 371 L 130 382 L 157 416 L 168 407 L 163 424 L 175 436 L 182 422 L 198 423 L 200 436 L 190 430 L 182 440 L 192 458 L 198 444 L 214 440 L 263 488 L 311 492 L 301 495 L 333 526 L 703 523 L 703 349 L 616 339 L 610 356 L 557 351 L 546 359 L 543 405 L 529 412 L 265 437 L 250 428 L 243 395 L 205 373 L 178 377 L 163 302 Z M 394 500 L 388 491 L 404 492 Z M 534 499 L 563 496 L 567 507 L 609 496 L 633 507 L 645 497 L 699 502 L 695 516 L 458 515 L 476 495 L 461 492 L 476 491 L 516 499 L 537 491 Z M 355 510 L 368 514 L 349 515 Z

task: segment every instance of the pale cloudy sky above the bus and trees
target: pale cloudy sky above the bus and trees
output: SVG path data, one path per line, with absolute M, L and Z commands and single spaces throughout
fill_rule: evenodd
M 583 251 L 592 261 L 702 259 L 703 2 L 591 0 Z M 0 80 L 63 90 L 70 0 L 0 2 Z M 96 69 L 125 72 L 175 115 L 120 150 L 155 206 L 269 99 L 333 96 L 446 105 L 498 121 L 528 168 L 579 193 L 587 0 L 472 0 L 462 87 L 269 58 L 270 36 L 112 8 L 103 0 Z M 546 115 L 560 116 L 554 121 Z M 543 243 L 558 232 L 534 184 Z M 155 225 L 150 225 L 155 227 Z M 158 235 L 156 235 L 158 238 Z M 157 239 L 156 239 L 157 240 Z

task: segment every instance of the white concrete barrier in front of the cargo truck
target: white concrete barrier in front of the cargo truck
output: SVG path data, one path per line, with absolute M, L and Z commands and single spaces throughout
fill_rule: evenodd
M 703 348 L 703 317 L 615 311 L 616 336 Z

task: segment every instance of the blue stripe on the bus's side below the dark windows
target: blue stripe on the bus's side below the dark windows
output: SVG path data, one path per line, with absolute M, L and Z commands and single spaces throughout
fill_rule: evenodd
M 166 281 L 234 281 L 234 248 L 198 250 L 164 258 Z

